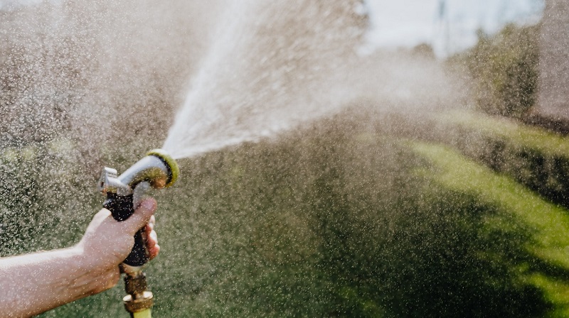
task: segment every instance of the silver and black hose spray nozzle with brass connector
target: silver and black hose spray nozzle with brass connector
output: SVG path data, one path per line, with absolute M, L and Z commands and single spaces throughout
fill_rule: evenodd
M 99 190 L 107 196 L 103 207 L 108 209 L 117 221 L 124 221 L 134 213 L 144 194 L 150 188 L 161 189 L 174 185 L 179 168 L 165 150 L 154 149 L 144 158 L 118 175 L 117 170 L 105 168 L 99 180 Z M 144 229 L 134 234 L 134 246 L 121 264 L 124 277 L 124 308 L 132 318 L 151 317 L 150 309 L 154 295 L 147 290 L 144 265 L 149 261 L 144 238 Z

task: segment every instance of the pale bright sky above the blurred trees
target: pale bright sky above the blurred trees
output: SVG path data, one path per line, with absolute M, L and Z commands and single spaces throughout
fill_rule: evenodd
M 367 49 L 429 43 L 444 57 L 476 43 L 476 31 L 508 22 L 535 23 L 544 0 L 366 0 L 371 20 Z

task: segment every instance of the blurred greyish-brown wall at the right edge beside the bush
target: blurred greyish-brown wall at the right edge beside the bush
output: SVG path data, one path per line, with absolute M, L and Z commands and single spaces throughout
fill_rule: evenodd
M 539 114 L 569 120 L 569 1 L 546 0 L 540 43 Z

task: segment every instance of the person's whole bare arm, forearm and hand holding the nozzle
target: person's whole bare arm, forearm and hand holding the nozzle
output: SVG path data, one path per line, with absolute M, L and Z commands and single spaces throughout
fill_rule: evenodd
M 0 316 L 32 317 L 116 285 L 118 265 L 132 250 L 139 229 L 145 227 L 150 257 L 158 254 L 155 210 L 156 200 L 146 199 L 119 222 L 102 209 L 73 247 L 0 258 Z

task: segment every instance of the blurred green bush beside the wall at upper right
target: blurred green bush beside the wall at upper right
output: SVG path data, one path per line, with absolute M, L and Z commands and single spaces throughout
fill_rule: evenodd
M 506 25 L 499 33 L 478 31 L 473 48 L 450 58 L 466 67 L 482 111 L 520 118 L 536 103 L 539 25 Z

